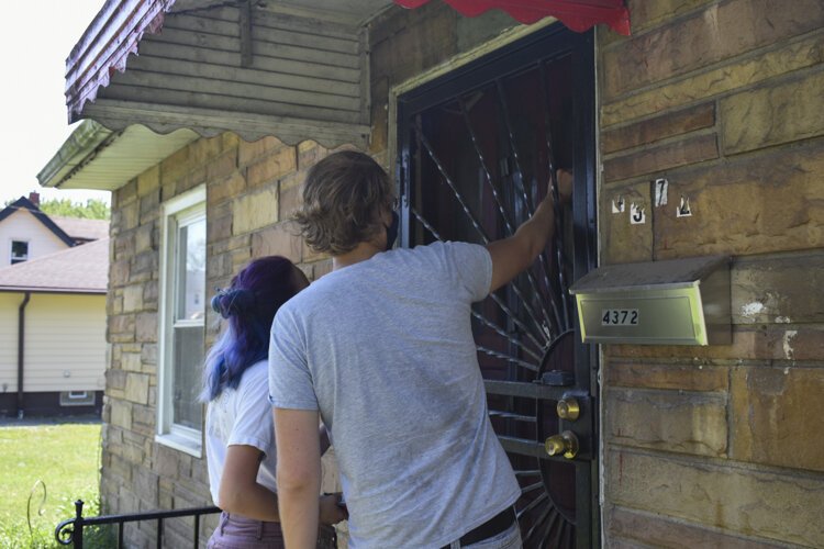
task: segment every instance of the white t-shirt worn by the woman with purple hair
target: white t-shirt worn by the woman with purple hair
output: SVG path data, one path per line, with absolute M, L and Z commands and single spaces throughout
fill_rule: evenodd
M 207 464 L 212 501 L 218 493 L 226 462 L 229 446 L 253 446 L 265 453 L 257 472 L 257 482 L 272 492 L 275 483 L 275 425 L 268 394 L 266 360 L 249 367 L 237 389 L 224 389 L 209 403 L 207 412 Z

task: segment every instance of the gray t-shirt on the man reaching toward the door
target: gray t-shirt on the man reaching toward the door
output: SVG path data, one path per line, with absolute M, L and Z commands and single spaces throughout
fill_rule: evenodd
M 470 323 L 491 278 L 482 246 L 397 249 L 326 274 L 275 317 L 270 401 L 320 410 L 350 547 L 441 547 L 520 496 Z

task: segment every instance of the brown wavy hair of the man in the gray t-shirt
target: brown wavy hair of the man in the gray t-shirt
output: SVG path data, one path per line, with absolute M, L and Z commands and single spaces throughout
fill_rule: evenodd
M 338 256 L 376 237 L 393 201 L 383 168 L 364 153 L 343 150 L 310 168 L 294 221 L 310 248 Z

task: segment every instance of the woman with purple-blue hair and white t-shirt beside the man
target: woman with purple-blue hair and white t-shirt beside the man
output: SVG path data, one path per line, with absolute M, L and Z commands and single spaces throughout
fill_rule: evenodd
M 210 548 L 283 547 L 268 401 L 269 328 L 280 305 L 308 285 L 289 259 L 270 256 L 252 261 L 212 298 L 212 309 L 227 322 L 205 359 L 209 484 L 223 511 Z M 323 450 L 323 428 L 321 436 Z M 337 503 L 336 495 L 320 498 L 323 523 L 346 518 Z

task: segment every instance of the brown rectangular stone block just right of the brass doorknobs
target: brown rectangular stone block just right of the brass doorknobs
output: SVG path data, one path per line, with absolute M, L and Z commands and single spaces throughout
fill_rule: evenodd
M 604 402 L 611 442 L 726 457 L 727 404 L 721 393 L 611 389 Z

